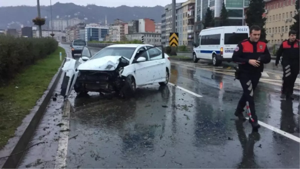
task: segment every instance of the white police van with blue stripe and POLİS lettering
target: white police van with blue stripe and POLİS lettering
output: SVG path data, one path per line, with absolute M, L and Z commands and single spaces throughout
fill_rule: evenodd
M 222 61 L 231 62 L 238 42 L 249 37 L 248 26 L 221 26 L 203 29 L 193 48 L 193 61 L 212 60 L 214 66 Z

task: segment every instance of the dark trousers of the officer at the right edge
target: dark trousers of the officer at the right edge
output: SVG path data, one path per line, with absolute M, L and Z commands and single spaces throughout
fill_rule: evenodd
M 284 61 L 286 62 L 286 61 Z M 299 74 L 300 65 L 299 62 L 286 62 L 282 65 L 283 68 L 283 77 L 282 77 L 282 86 L 281 93 L 285 95 L 292 95 L 294 91 L 295 81 Z

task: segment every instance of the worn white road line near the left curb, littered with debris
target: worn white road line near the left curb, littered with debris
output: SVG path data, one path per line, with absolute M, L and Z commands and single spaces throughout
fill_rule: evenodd
M 67 161 L 67 148 L 68 148 L 68 140 L 69 140 L 69 117 L 70 117 L 70 101 L 66 100 L 64 103 L 64 112 L 62 115 L 63 125 L 61 125 L 61 132 L 58 142 L 58 149 L 55 158 L 55 169 L 61 169 L 66 167 Z

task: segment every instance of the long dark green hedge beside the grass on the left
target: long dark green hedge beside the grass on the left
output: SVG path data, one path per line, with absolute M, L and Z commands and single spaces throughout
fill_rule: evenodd
M 53 53 L 58 42 L 52 38 L 15 38 L 0 36 L 0 86 L 21 72 Z

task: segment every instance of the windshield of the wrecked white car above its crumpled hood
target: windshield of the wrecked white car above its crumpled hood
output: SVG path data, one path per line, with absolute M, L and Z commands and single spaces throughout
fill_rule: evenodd
M 135 49 L 135 47 L 106 47 L 96 53 L 91 59 L 98 59 L 104 56 L 123 56 L 131 59 Z

